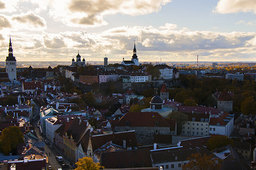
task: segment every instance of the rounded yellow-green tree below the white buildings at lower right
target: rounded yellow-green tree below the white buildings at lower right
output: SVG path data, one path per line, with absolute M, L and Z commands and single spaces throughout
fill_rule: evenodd
M 224 135 L 216 135 L 209 139 L 207 142 L 207 147 L 210 151 L 215 150 L 216 148 L 226 146 L 226 145 L 234 145 L 234 141 Z

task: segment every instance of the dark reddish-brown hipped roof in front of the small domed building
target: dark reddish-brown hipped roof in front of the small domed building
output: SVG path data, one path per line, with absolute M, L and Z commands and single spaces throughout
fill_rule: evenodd
M 128 112 L 115 126 L 126 126 L 127 121 L 131 127 L 155 127 L 155 122 L 158 122 L 158 127 L 171 128 L 171 125 L 158 112 Z

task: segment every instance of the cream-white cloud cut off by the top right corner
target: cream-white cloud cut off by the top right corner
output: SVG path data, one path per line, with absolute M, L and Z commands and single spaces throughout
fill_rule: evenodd
M 230 14 L 236 12 L 254 12 L 256 14 L 256 1 L 251 0 L 220 0 L 213 12 Z

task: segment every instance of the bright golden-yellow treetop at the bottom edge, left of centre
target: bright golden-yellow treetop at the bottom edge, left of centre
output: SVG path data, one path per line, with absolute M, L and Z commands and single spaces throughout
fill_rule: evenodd
M 90 157 L 84 157 L 79 159 L 79 161 L 76 163 L 77 168 L 75 170 L 98 170 L 101 168 L 100 163 L 94 163 L 92 158 Z M 104 168 L 104 167 L 102 167 Z

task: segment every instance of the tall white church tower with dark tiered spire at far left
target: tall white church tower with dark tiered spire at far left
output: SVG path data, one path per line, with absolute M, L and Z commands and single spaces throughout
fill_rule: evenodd
M 16 59 L 13 56 L 13 48 L 11 46 L 11 36 L 10 36 L 10 43 L 9 43 L 9 54 L 8 57 L 6 57 L 6 65 L 5 65 L 5 71 L 8 74 L 8 78 L 13 81 L 17 79 L 16 75 Z

